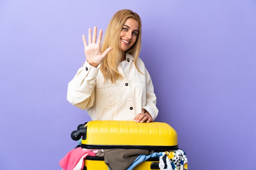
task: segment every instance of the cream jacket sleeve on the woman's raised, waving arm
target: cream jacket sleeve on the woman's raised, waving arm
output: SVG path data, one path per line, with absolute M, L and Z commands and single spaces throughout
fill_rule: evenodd
M 94 68 L 85 61 L 85 64 L 79 68 L 72 81 L 68 83 L 67 101 L 83 110 L 93 106 L 94 87 L 99 67 L 100 65 Z

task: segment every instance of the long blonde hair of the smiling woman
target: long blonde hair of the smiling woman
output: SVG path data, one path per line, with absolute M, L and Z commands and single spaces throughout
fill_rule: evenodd
M 112 19 L 110 20 L 108 27 L 106 28 L 101 46 L 101 51 L 103 52 L 108 47 L 113 48 L 103 59 L 100 66 L 100 70 L 104 78 L 110 78 L 112 83 L 115 83 L 119 78 L 123 78 L 122 75 L 118 72 L 117 66 L 122 57 L 120 47 L 120 34 L 124 23 L 128 18 L 132 18 L 139 23 L 139 32 L 135 44 L 133 44 L 133 46 L 126 51 L 126 53 L 129 53 L 134 57 L 135 67 L 137 68 L 137 59 L 141 49 L 141 20 L 137 13 L 134 13 L 129 9 L 122 9 L 117 11 L 117 13 L 115 13 L 115 15 L 113 15 Z M 141 73 L 138 68 L 137 70 Z

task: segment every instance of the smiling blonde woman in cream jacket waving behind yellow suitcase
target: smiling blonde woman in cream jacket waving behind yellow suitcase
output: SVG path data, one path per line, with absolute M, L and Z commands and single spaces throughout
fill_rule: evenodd
M 120 10 L 102 30 L 89 28 L 83 37 L 86 61 L 68 84 L 67 100 L 86 109 L 92 120 L 153 122 L 158 114 L 154 87 L 143 61 L 141 20 Z

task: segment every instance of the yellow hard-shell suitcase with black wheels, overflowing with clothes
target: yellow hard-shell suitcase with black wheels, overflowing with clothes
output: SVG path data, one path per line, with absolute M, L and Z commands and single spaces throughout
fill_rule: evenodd
M 88 149 L 146 149 L 166 151 L 178 149 L 176 131 L 164 122 L 90 121 L 71 133 L 73 140 L 82 137 L 81 147 Z M 133 170 L 159 169 L 159 158 L 141 162 Z M 108 170 L 103 157 L 85 158 L 83 170 Z

